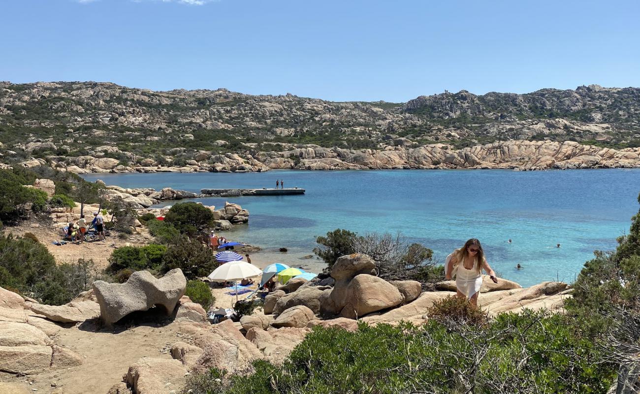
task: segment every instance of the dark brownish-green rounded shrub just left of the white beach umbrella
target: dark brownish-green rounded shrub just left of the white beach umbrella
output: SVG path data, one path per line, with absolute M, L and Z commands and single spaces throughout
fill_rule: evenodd
M 218 267 L 218 261 L 210 247 L 196 240 L 182 237 L 180 242 L 169 245 L 162 262 L 163 274 L 180 268 L 187 279 L 204 277 Z

